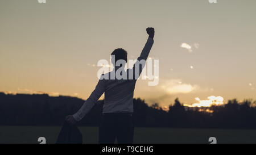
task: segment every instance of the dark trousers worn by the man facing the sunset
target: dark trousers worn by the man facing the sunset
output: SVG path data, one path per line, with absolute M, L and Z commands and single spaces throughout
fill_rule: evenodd
M 131 114 L 103 114 L 99 130 L 99 143 L 113 144 L 117 138 L 119 144 L 131 144 L 133 143 L 133 131 Z

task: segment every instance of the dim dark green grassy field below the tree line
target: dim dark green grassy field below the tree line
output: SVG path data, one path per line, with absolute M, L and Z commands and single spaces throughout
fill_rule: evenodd
M 60 129 L 0 126 L 0 143 L 39 143 L 38 137 L 46 137 L 46 143 L 55 143 Z M 97 127 L 79 129 L 84 143 L 98 143 Z M 256 130 L 135 128 L 134 131 L 134 143 L 209 143 L 209 137 L 216 137 L 217 143 L 256 143 Z

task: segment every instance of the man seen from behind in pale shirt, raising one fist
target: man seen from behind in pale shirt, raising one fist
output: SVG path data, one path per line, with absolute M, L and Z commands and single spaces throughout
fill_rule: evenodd
M 154 28 L 147 28 L 146 31 L 148 33 L 147 43 L 133 68 L 125 71 L 124 65 L 117 65 L 118 61 L 127 62 L 127 52 L 122 48 L 115 49 L 111 54 L 112 58 L 114 57 L 114 69 L 109 73 L 102 74 L 96 88 L 79 111 L 74 115 L 66 117 L 69 124 L 75 124 L 84 118 L 101 95 L 105 93 L 103 116 L 99 130 L 99 143 L 114 143 L 115 138 L 117 138 L 118 143 L 133 143 L 134 128 L 132 115 L 135 83 L 146 63 L 155 35 Z M 127 77 L 122 79 L 113 78 L 112 75 L 116 75 L 115 73 L 120 69 L 121 75 Z

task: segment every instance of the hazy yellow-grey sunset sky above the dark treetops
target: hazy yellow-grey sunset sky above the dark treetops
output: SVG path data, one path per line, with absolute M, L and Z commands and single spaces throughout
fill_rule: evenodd
M 159 84 L 139 80 L 134 97 L 168 106 L 256 99 L 256 1 L 0 0 L 0 91 L 86 99 L 98 60 L 116 48 L 149 57 Z M 102 98 L 102 97 L 101 97 Z M 221 101 L 221 102 L 222 102 Z

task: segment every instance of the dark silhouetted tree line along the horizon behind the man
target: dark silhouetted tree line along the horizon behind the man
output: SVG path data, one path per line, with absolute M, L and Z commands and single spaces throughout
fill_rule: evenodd
M 84 100 L 75 97 L 49 97 L 47 94 L 0 93 L 0 125 L 61 125 L 65 116 L 75 114 Z M 138 98 L 134 103 L 135 127 L 172 128 L 256 128 L 256 108 L 251 100 L 229 100 L 222 106 L 183 106 L 178 99 L 168 111 L 158 103 L 148 106 Z M 79 125 L 97 126 L 104 100 L 98 100 Z

